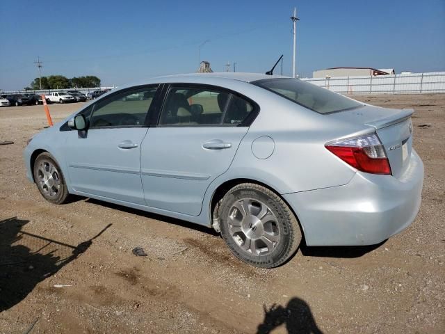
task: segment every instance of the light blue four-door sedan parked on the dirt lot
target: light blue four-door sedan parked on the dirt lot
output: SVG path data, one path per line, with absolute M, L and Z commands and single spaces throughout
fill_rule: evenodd
M 270 268 L 303 236 L 369 245 L 412 223 L 423 184 L 412 113 L 286 77 L 159 77 L 35 135 L 24 161 L 49 202 L 76 194 L 213 227 Z

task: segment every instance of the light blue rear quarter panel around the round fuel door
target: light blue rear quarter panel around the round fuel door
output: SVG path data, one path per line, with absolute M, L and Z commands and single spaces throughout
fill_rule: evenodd
M 248 177 L 268 184 L 278 193 L 347 184 L 355 169 L 326 150 L 325 143 L 343 136 L 369 133 L 372 128 L 330 120 L 275 93 L 254 87 L 256 96 L 248 97 L 259 104 L 260 112 L 225 177 Z M 252 152 L 252 143 L 261 136 L 269 136 L 275 143 L 273 154 L 267 159 L 259 159 Z

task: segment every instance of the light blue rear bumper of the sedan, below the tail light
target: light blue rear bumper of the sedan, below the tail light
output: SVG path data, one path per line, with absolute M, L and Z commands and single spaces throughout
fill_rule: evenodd
M 296 212 L 308 246 L 378 244 L 407 228 L 421 204 L 423 163 L 412 150 L 396 178 L 357 172 L 344 186 L 283 195 Z

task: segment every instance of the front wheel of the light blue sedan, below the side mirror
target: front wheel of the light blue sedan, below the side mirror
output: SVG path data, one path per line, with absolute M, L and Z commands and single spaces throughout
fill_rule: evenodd
M 54 173 L 51 173 L 51 178 L 53 180 L 53 184 L 49 184 L 51 190 L 49 190 L 48 184 L 45 184 L 44 181 L 42 181 L 42 167 L 44 168 L 47 164 L 52 164 L 56 168 Z M 34 162 L 33 175 L 35 184 L 45 200 L 53 204 L 63 204 L 64 202 L 67 202 L 70 193 L 68 193 L 65 177 L 63 177 L 60 166 L 58 166 L 56 159 L 54 159 L 51 154 L 43 152 L 38 155 Z M 57 186 L 56 183 L 59 186 Z

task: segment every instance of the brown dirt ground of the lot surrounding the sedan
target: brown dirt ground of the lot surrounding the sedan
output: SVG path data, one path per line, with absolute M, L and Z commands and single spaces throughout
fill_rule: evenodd
M 86 198 L 49 204 L 22 162 L 42 106 L 0 109 L 0 141 L 14 141 L 0 145 L 0 333 L 444 333 L 445 94 L 354 98 L 416 110 L 419 216 L 384 244 L 302 246 L 277 269 L 239 262 L 184 221 Z M 80 106 L 50 110 L 61 120 Z

